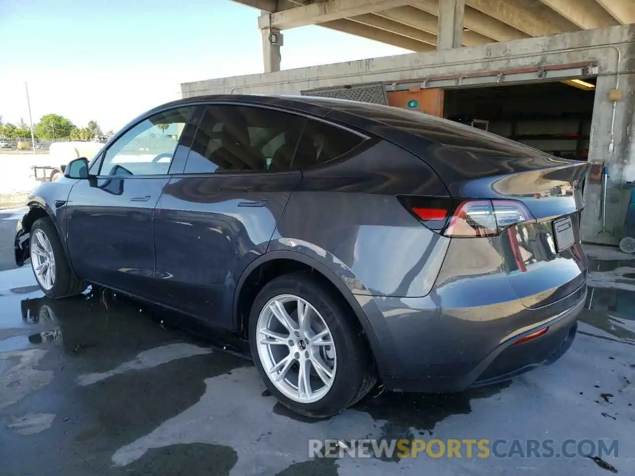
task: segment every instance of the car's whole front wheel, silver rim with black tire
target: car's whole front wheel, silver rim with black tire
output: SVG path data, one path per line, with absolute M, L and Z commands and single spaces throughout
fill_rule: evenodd
M 86 283 L 72 272 L 62 241 L 50 218 L 39 218 L 30 232 L 30 258 L 33 274 L 44 294 L 51 298 L 74 296 Z

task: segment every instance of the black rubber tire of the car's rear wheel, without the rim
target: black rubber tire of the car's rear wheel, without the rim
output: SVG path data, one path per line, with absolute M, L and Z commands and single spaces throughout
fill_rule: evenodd
M 301 403 L 288 398 L 272 383 L 260 361 L 257 347 L 258 316 L 269 300 L 281 294 L 294 294 L 311 303 L 331 331 L 337 349 L 337 372 L 333 386 L 317 402 Z M 324 286 L 309 272 L 295 272 L 281 275 L 265 284 L 251 308 L 249 341 L 258 372 L 272 395 L 298 414 L 325 418 L 340 413 L 363 398 L 377 381 L 371 352 L 364 341 L 361 326 L 342 300 L 342 296 Z

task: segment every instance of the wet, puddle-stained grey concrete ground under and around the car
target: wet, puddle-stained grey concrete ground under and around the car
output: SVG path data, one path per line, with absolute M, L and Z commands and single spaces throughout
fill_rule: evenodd
M 49 300 L 30 268 L 4 269 L 0 475 L 635 474 L 635 261 L 591 253 L 594 288 L 556 364 L 455 395 L 375 391 L 321 421 L 276 404 L 237 343 L 97 290 Z M 605 468 L 584 456 L 309 459 L 308 440 L 327 438 L 617 439 L 619 453 Z

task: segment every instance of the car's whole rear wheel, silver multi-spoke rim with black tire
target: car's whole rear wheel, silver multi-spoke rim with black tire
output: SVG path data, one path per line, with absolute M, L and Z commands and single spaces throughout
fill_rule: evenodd
M 356 318 L 308 273 L 264 286 L 251 310 L 250 345 L 267 388 L 305 416 L 337 414 L 375 384 Z

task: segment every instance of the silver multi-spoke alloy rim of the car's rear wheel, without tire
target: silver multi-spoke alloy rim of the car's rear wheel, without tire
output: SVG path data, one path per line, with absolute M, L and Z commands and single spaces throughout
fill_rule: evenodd
M 257 322 L 258 356 L 269 379 L 291 400 L 312 403 L 333 387 L 337 354 L 318 310 L 293 294 L 272 298 Z

